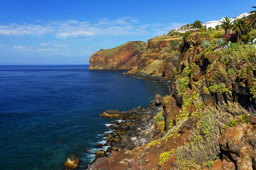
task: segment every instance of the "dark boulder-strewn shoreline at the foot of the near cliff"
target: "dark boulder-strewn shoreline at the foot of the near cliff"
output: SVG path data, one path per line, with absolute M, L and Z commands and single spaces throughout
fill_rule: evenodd
M 103 146 L 109 146 L 107 151 L 98 150 L 95 152 L 96 158 L 93 160 L 89 169 L 97 169 L 102 162 L 99 158 L 109 156 L 112 151 L 133 150 L 134 148 L 145 145 L 154 139 L 161 138 L 161 130 L 155 125 L 154 116 L 162 111 L 162 97 L 156 95 L 147 108 L 141 106 L 130 109 L 126 112 L 117 110 L 107 110 L 100 116 L 106 118 L 118 118 L 121 122 L 114 121 L 108 128 L 114 130 L 113 133 L 104 134 L 106 143 Z M 103 147 L 98 145 L 98 147 Z M 102 154 L 99 154 L 101 152 Z M 99 160 L 98 160 L 99 159 Z

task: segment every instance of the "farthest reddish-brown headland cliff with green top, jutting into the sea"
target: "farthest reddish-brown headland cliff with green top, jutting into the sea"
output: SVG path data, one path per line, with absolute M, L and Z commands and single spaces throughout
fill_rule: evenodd
M 90 57 L 90 70 L 131 70 L 137 66 L 146 42 L 130 41 L 113 49 L 100 49 Z

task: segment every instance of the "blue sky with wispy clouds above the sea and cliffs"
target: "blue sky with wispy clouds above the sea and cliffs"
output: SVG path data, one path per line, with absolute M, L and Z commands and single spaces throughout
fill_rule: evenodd
M 91 54 L 184 24 L 234 18 L 256 1 L 1 1 L 0 65 L 89 64 Z

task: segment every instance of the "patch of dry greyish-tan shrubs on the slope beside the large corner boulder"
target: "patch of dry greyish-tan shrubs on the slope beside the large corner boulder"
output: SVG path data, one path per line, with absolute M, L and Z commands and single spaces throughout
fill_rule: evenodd
M 192 163 L 202 164 L 215 160 L 220 154 L 218 140 L 224 125 L 246 112 L 246 109 L 240 105 L 230 102 L 216 109 L 205 108 L 202 112 L 202 118 L 192 128 L 188 137 L 188 141 L 194 142 L 186 143 L 186 145 L 177 148 L 177 162 L 185 168 L 190 167 Z

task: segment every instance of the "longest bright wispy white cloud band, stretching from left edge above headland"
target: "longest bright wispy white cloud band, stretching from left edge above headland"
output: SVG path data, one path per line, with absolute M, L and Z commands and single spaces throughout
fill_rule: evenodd
M 0 25 L 0 35 L 43 36 L 50 34 L 58 38 L 77 36 L 121 36 L 121 35 L 161 35 L 181 26 L 181 23 L 140 24 L 139 20 L 123 17 L 115 20 L 101 19 L 99 22 L 79 22 L 78 20 L 54 20 L 45 22 L 36 20 L 33 23 Z M 48 44 L 40 44 L 45 46 Z

